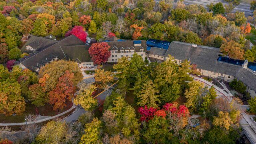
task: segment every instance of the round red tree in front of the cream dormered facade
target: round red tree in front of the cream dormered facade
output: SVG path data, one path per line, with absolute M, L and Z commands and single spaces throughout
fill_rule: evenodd
M 89 48 L 89 54 L 95 64 L 108 61 L 110 57 L 110 46 L 106 42 L 93 43 Z

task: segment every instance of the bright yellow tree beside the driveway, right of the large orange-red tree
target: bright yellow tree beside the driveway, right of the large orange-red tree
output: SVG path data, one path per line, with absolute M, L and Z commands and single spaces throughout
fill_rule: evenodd
M 74 99 L 76 105 L 81 105 L 85 110 L 93 110 L 97 105 L 97 99 L 93 99 L 92 93 L 95 91 L 94 85 L 83 85 L 79 94 Z

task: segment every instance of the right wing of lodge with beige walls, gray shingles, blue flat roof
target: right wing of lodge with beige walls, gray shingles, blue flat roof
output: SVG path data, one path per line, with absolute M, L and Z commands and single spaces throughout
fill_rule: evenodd
M 148 57 L 165 61 L 168 55 L 173 56 L 178 65 L 185 59 L 196 64 L 197 70 L 203 76 L 227 82 L 237 78 L 246 85 L 246 92 L 252 97 L 256 96 L 256 63 L 223 57 L 219 48 L 179 41 L 171 42 L 168 49 L 151 47 Z

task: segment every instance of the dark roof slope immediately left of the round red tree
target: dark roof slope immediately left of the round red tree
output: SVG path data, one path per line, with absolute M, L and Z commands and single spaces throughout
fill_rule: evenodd
M 77 46 L 61 46 L 65 59 L 77 60 L 80 64 L 82 62 L 92 62 L 90 54 L 88 52 L 89 45 L 77 45 Z

